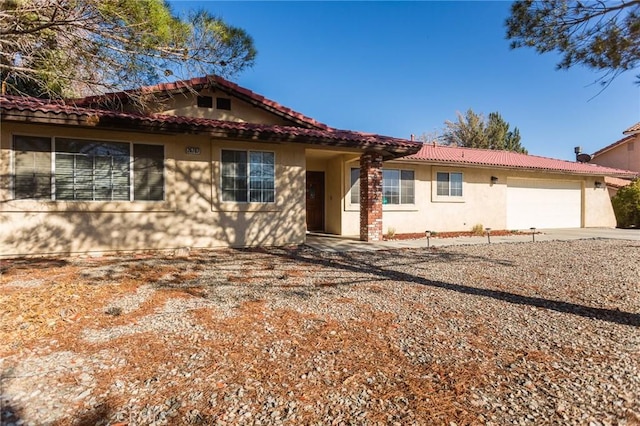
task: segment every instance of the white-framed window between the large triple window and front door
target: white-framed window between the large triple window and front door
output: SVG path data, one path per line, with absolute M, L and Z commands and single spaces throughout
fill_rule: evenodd
M 273 152 L 222 150 L 222 201 L 273 203 Z

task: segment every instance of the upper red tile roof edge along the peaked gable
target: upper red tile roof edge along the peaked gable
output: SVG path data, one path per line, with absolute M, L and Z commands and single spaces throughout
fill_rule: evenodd
M 174 92 L 182 92 L 185 90 L 200 90 L 204 87 L 220 88 L 221 90 L 227 93 L 233 94 L 239 97 L 240 99 L 243 99 L 249 103 L 253 103 L 256 106 L 262 107 L 263 109 L 266 109 L 272 113 L 276 113 L 277 115 L 285 119 L 292 120 L 297 124 L 301 124 L 305 127 L 313 127 L 317 129 L 330 128 L 324 123 L 316 121 L 311 117 L 307 117 L 304 114 L 294 111 L 291 108 L 287 108 L 284 105 L 279 104 L 278 102 L 272 101 L 271 99 L 267 99 L 260 94 L 252 92 L 249 89 L 245 89 L 244 87 L 238 86 L 237 84 L 216 75 L 209 75 L 206 77 L 196 77 L 190 80 L 180 80 L 180 81 L 175 81 L 171 83 L 161 83 L 153 86 L 145 86 L 130 92 L 174 93 Z M 72 99 L 72 100 L 69 100 L 69 103 L 75 104 L 77 106 L 93 106 L 94 104 L 104 99 L 110 99 L 110 98 L 126 99 L 127 94 L 128 92 L 107 93 L 105 95 L 89 96 L 89 97 L 80 98 L 80 99 Z

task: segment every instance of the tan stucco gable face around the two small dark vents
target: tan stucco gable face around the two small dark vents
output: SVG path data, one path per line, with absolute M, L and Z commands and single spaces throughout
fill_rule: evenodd
M 178 115 L 183 117 L 210 118 L 215 120 L 259 123 L 259 124 L 276 124 L 291 125 L 291 122 L 285 121 L 262 108 L 255 107 L 236 97 L 230 97 L 222 91 L 202 90 L 201 96 L 211 96 L 213 98 L 213 108 L 198 107 L 196 96 L 192 93 L 178 94 L 164 102 L 160 107 L 160 112 L 168 115 Z M 231 110 L 222 110 L 216 108 L 216 97 L 230 98 Z

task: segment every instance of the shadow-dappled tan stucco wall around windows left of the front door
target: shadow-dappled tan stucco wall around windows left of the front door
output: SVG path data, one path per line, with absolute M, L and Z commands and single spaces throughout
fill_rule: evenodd
M 10 148 L 14 133 L 163 144 L 166 199 L 12 200 Z M 305 156 L 300 146 L 6 122 L 2 123 L 0 138 L 0 255 L 284 245 L 304 241 Z M 186 146 L 199 147 L 200 154 L 186 154 Z M 275 153 L 275 203 L 220 201 L 218 161 L 223 148 Z

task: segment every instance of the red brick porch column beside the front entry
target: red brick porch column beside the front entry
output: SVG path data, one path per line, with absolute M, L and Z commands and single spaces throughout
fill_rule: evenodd
M 382 240 L 382 154 L 360 157 L 360 240 Z

